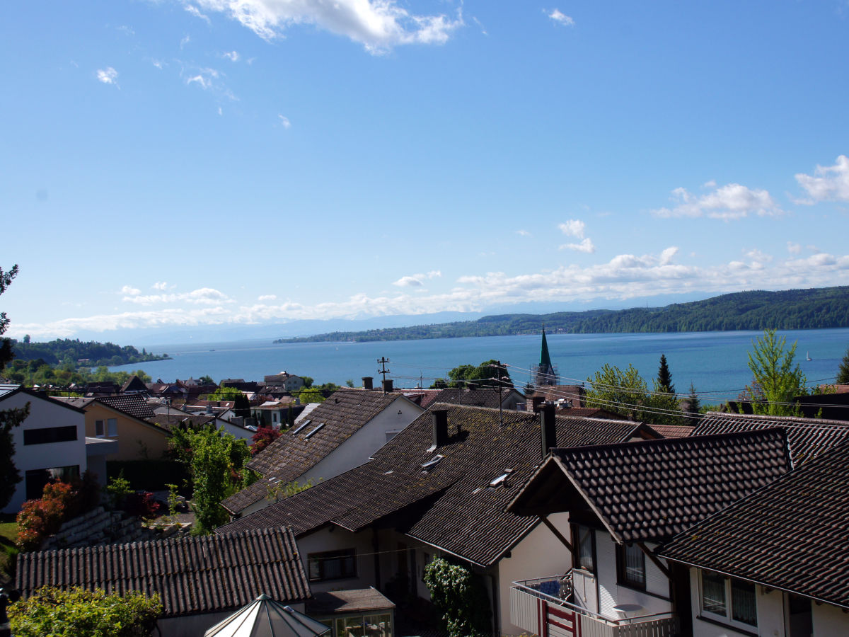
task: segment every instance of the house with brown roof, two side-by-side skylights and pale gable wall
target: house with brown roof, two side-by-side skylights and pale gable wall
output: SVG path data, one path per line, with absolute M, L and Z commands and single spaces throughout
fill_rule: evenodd
M 250 460 L 248 468 L 261 473 L 261 480 L 222 505 L 233 516 L 244 516 L 271 504 L 275 485 L 338 476 L 366 462 L 421 413 L 418 405 L 398 394 L 334 392 Z

